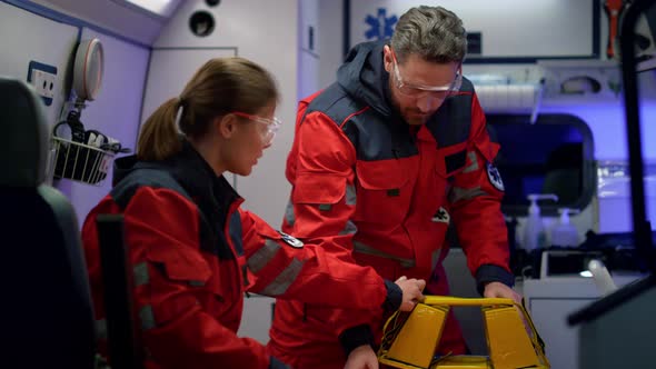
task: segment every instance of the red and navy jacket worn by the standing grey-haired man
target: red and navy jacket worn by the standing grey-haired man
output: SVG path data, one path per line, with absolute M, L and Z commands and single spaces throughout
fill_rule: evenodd
M 499 146 L 488 136 L 471 83 L 465 80 L 414 132 L 386 103 L 381 48 L 357 47 L 337 83 L 300 102 L 282 229 L 342 260 L 372 266 L 384 278 L 428 280 L 446 256 L 453 222 L 479 288 L 489 281 L 511 286 L 503 182 L 491 166 Z M 270 347 L 284 358 L 326 365 L 344 360 L 335 350 L 338 337 L 348 351 L 370 340 L 367 325 L 379 332 L 381 319 L 380 311 L 279 301 Z

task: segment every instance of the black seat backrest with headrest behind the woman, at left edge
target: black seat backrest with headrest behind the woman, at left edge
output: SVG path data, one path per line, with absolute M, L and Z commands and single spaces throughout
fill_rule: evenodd
M 20 80 L 0 77 L 0 338 L 9 345 L 0 362 L 92 368 L 95 320 L 76 212 L 43 184 L 50 129 L 40 98 Z

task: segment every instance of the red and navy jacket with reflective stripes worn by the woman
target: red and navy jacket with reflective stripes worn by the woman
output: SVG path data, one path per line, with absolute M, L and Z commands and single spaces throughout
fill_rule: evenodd
M 128 168 L 115 170 L 119 182 L 89 213 L 82 237 L 102 331 L 96 218 L 125 216 L 149 368 L 284 367 L 259 342 L 236 336 L 246 291 L 307 303 L 398 307 L 398 287 L 386 288 L 372 269 L 342 267 L 240 210 L 242 200 L 188 143 L 167 162 L 133 161 L 118 160 Z

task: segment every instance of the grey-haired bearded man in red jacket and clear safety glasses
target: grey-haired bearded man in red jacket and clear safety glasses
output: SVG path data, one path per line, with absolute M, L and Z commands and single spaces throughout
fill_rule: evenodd
M 299 104 L 282 228 L 389 280 L 430 278 L 426 293 L 448 295 L 453 222 L 479 292 L 520 301 L 493 164 L 499 144 L 463 78 L 466 49 L 461 20 L 441 7 L 413 8 L 391 40 L 356 46 L 337 82 Z M 279 300 L 269 348 L 295 369 L 378 368 L 386 318 Z M 438 346 L 448 352 L 466 353 L 453 315 Z

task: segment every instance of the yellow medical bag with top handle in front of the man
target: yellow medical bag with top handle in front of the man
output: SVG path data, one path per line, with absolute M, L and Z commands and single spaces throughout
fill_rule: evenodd
M 451 307 L 480 307 L 488 356 L 435 355 Z M 411 312 L 396 312 L 385 325 L 378 360 L 404 369 L 547 369 L 544 342 L 530 316 L 510 299 L 426 296 Z

